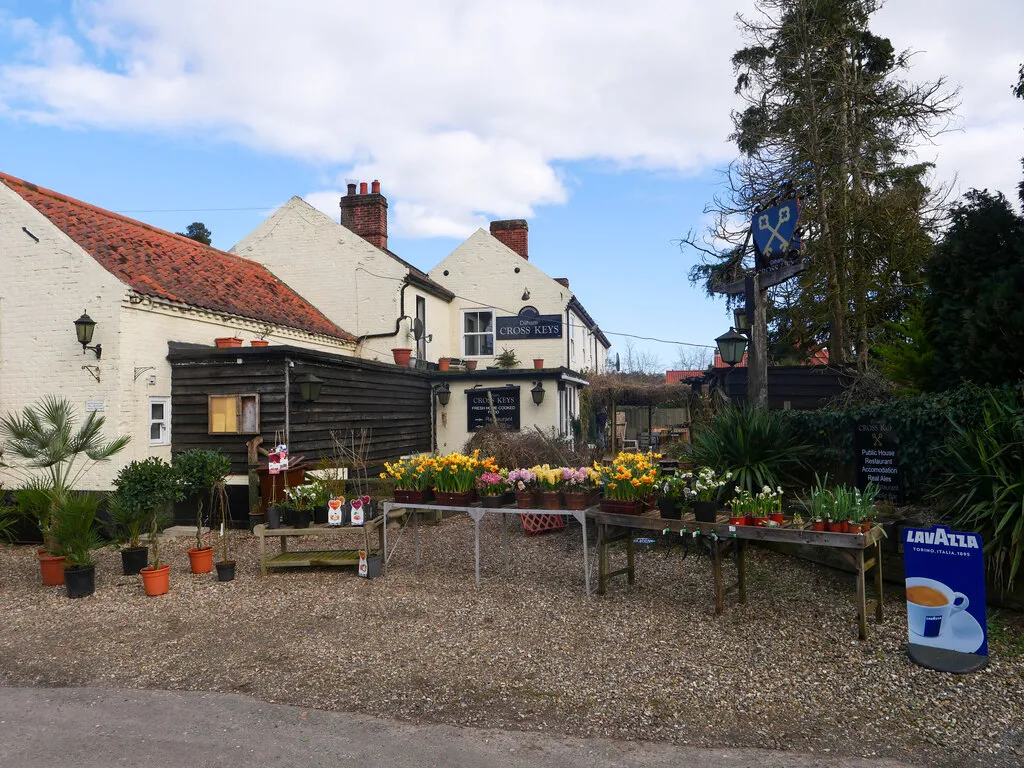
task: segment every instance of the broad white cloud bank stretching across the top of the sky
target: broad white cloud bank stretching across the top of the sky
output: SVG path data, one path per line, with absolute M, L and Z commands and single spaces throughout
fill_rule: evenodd
M 749 0 L 742 0 L 749 5 Z M 1010 95 L 1024 7 L 894 0 L 877 31 L 925 49 L 912 77 L 964 86 L 939 175 L 1012 190 L 1024 102 Z M 996 7 L 997 6 L 997 7 Z M 7 23 L 0 113 L 74 127 L 195 132 L 379 178 L 393 231 L 465 236 L 564 203 L 558 164 L 696 173 L 723 165 L 741 45 L 735 7 L 700 0 L 93 0 Z M 1016 133 L 1015 133 L 1016 131 Z M 1019 141 L 1024 144 L 1024 141 Z M 301 190 L 282 190 L 283 195 Z M 309 196 L 336 215 L 336 193 Z M 330 204 L 327 196 L 332 196 Z

